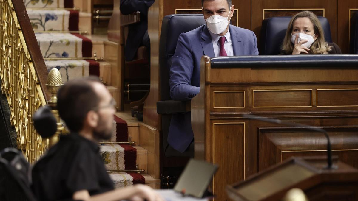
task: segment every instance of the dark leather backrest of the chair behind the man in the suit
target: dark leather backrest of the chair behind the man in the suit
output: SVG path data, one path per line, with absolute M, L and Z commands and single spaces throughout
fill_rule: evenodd
M 161 100 L 171 100 L 169 95 L 169 69 L 179 35 L 205 24 L 202 14 L 174 14 L 164 17 L 159 42 L 159 72 Z

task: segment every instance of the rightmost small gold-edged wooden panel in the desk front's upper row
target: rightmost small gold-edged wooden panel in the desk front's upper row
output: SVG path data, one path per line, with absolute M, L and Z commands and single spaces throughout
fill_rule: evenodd
M 317 89 L 317 107 L 358 107 L 358 89 Z

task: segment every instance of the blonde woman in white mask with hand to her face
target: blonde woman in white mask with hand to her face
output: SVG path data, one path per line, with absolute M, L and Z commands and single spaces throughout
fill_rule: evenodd
M 335 43 L 324 40 L 324 31 L 317 16 L 302 11 L 292 17 L 287 27 L 281 54 L 342 54 Z

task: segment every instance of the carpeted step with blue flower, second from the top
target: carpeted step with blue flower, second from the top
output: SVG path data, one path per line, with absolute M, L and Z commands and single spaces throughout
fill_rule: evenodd
M 78 31 L 78 10 L 26 9 L 34 31 Z

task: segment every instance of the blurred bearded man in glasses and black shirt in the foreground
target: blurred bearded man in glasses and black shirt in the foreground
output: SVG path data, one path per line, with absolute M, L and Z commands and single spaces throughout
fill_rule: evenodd
M 98 78 L 70 81 L 57 98 L 70 134 L 60 136 L 33 168 L 33 191 L 39 201 L 161 200 L 145 185 L 114 190 L 96 142 L 111 137 L 116 104 Z

